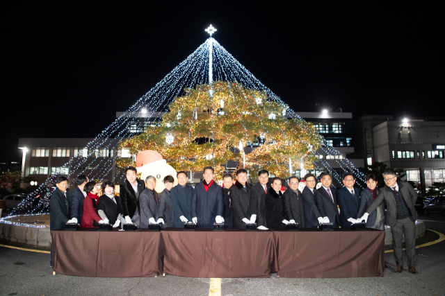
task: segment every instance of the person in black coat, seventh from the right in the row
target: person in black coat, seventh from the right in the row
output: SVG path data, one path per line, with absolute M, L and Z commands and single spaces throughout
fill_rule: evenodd
M 272 188 L 266 194 L 267 227 L 269 229 L 284 229 L 289 221 L 284 218 L 281 179 L 274 177 L 272 182 Z

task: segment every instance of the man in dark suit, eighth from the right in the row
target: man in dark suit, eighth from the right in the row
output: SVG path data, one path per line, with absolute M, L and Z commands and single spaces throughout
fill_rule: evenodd
M 257 213 L 257 225 L 259 229 L 266 229 L 266 227 L 268 227 L 266 221 L 266 194 L 269 189 L 269 172 L 261 170 L 258 172 L 258 182 L 252 186 L 250 191 L 250 211 Z

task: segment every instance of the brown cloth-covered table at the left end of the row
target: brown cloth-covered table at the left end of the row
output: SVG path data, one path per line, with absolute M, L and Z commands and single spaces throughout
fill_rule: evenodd
M 138 229 L 51 231 L 53 268 L 81 277 L 153 277 L 162 273 L 161 233 Z

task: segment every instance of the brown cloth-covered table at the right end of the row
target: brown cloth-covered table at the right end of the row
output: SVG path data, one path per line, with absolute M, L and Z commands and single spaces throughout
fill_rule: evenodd
M 300 229 L 274 232 L 280 277 L 382 277 L 385 232 Z

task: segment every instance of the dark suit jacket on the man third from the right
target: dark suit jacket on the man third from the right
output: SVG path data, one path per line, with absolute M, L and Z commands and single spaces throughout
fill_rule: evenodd
M 360 207 L 360 190 L 354 187 L 354 195 L 352 195 L 346 187 L 336 192 L 337 202 L 340 207 L 340 225 L 341 227 L 350 228 L 349 218 L 357 219 Z

